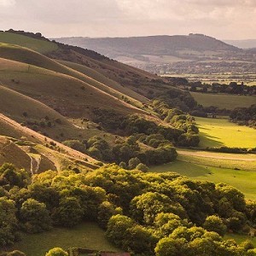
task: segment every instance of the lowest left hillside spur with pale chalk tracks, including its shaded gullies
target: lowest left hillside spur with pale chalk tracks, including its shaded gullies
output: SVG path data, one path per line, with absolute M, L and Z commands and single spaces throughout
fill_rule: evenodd
M 21 126 L 2 113 L 0 113 L 0 134 L 4 137 L 9 137 L 7 140 L 6 138 L 2 138 L 3 147 L 2 149 L 0 148 L 2 160 L 8 160 L 14 164 L 16 164 L 17 161 L 17 163 L 23 168 L 26 168 L 26 170 L 28 168 L 27 157 L 29 157 L 31 161 L 40 160 L 37 167 L 32 167 L 33 170 L 37 170 L 38 172 L 49 169 L 61 171 L 67 168 L 79 168 L 81 171 L 96 169 L 96 160 L 89 155 L 68 148 L 49 137 L 45 137 L 36 131 Z M 15 146 L 10 141 L 15 142 Z M 8 153 L 8 151 L 6 151 L 8 148 L 6 145 L 9 144 L 12 148 L 11 154 L 8 158 L 3 157 Z M 19 148 L 16 148 L 17 145 Z M 30 163 L 32 164 L 32 162 Z M 29 170 L 31 170 L 31 165 L 29 165 Z

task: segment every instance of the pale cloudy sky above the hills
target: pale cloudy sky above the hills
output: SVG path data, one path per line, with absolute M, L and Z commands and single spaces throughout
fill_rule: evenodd
M 0 30 L 46 37 L 256 38 L 256 0 L 0 0 Z

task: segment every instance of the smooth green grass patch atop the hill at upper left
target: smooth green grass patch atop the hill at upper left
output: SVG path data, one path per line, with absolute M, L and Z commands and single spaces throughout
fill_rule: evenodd
M 0 42 L 5 44 L 17 44 L 22 47 L 33 49 L 42 54 L 58 49 L 58 46 L 55 43 L 36 38 L 28 38 L 26 36 L 10 32 L 0 32 Z

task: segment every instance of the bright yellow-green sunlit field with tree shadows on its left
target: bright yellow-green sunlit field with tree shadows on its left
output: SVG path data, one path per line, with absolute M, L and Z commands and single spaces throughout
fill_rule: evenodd
M 200 148 L 237 147 L 255 148 L 256 131 L 247 126 L 231 123 L 228 119 L 195 118 L 199 126 Z

